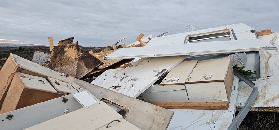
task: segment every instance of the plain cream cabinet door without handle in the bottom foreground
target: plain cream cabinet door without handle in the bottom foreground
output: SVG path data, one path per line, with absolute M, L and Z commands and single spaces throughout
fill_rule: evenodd
M 106 103 L 98 102 L 71 113 L 48 120 L 41 124 L 26 128 L 26 130 L 98 129 L 107 125 L 113 120 L 121 118 L 122 116 L 109 107 Z

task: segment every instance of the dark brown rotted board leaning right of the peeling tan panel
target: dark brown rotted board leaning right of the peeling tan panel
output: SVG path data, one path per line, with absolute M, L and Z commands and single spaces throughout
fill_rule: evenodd
M 76 72 L 76 78 L 80 79 L 83 76 L 90 73 L 96 67 L 102 65 L 99 59 L 95 58 L 91 54 L 83 54 L 78 57 L 78 66 Z

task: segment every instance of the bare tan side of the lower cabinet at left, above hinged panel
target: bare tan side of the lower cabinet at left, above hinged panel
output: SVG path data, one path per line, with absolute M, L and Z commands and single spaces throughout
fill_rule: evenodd
M 24 89 L 24 83 L 18 75 L 14 75 L 10 88 L 0 110 L 0 114 L 15 110 Z

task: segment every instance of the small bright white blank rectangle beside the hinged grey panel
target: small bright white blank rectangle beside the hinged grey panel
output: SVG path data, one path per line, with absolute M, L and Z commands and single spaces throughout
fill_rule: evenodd
M 93 98 L 89 93 L 87 93 L 86 91 L 82 91 L 79 93 L 75 93 L 73 94 L 73 96 L 82 104 L 82 106 L 86 107 L 86 106 L 90 106 L 97 101 L 95 98 Z

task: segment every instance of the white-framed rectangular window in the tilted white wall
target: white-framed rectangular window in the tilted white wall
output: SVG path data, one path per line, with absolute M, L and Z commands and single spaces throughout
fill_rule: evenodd
M 188 35 L 185 43 L 235 40 L 231 29 Z

